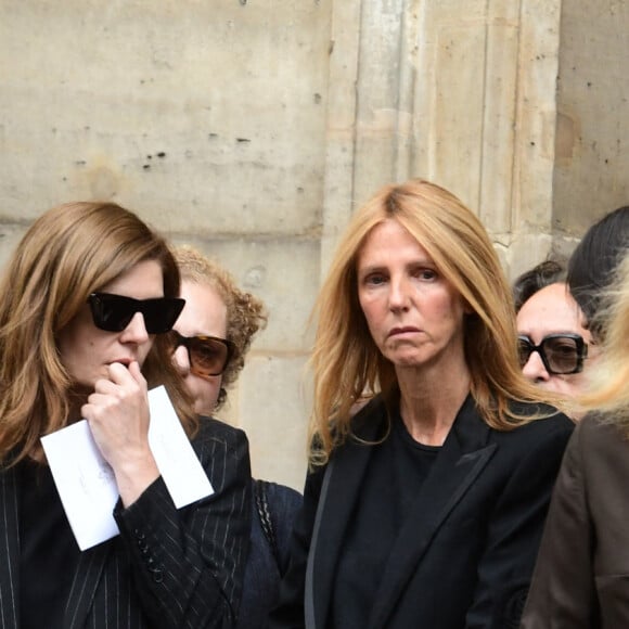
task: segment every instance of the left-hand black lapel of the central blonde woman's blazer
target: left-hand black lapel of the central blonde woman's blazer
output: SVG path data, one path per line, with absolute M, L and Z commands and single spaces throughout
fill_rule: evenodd
M 317 511 L 319 521 L 317 538 L 312 539 L 310 547 L 310 554 L 313 559 L 310 566 L 309 587 L 312 588 L 317 629 L 324 629 L 328 620 L 336 561 L 360 492 L 367 464 L 373 451 L 373 447 L 368 444 L 376 440 L 382 434 L 383 416 L 386 416 L 384 402 L 378 397 L 355 418 L 356 436 L 348 437 L 346 445 L 333 455 L 334 464 L 325 496 L 321 497 Z M 360 442 L 356 437 L 367 444 Z

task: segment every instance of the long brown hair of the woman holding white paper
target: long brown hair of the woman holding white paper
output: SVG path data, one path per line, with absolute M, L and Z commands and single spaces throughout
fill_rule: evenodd
M 164 240 L 113 203 L 54 207 L 28 229 L 0 280 L 0 463 L 41 461 L 42 435 L 70 422 L 73 382 L 56 335 L 90 293 L 144 260 L 163 270 L 164 294 L 179 294 L 179 271 Z M 196 429 L 190 398 L 157 335 L 143 373 L 163 383 L 189 434 Z

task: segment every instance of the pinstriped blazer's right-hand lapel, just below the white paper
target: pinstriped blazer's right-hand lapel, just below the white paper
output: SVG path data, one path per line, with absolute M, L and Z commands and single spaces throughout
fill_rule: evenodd
M 81 552 L 65 608 L 64 627 L 85 627 L 94 594 L 114 543 L 110 540 Z M 103 620 L 105 618 L 97 618 Z

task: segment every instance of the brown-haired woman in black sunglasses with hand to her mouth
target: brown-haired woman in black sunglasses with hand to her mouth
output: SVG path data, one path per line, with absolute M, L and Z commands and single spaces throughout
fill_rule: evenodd
M 233 626 L 248 448 L 242 432 L 193 412 L 169 367 L 179 284 L 164 240 L 112 203 L 51 209 L 11 258 L 0 283 L 3 628 Z M 157 384 L 214 488 L 179 510 L 147 441 L 147 388 Z M 119 493 L 119 536 L 82 552 L 40 445 L 81 418 Z

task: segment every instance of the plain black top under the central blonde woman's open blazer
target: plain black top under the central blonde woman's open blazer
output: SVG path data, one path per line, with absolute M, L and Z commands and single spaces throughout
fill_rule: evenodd
M 368 626 L 390 549 L 439 450 L 415 441 L 399 415 L 374 446 L 338 559 L 329 627 Z

